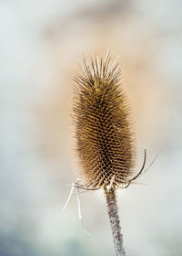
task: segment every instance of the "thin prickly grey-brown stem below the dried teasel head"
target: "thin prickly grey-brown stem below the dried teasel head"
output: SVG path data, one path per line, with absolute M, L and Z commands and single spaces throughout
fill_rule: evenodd
M 105 188 L 106 203 L 108 209 L 108 216 L 113 232 L 113 239 L 115 244 L 116 256 L 126 256 L 123 248 L 123 235 L 121 234 L 121 227 L 116 207 L 116 191 L 114 189 L 107 190 Z

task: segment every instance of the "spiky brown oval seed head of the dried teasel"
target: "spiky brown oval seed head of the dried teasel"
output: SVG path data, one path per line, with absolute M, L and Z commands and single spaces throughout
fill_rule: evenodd
M 116 189 L 132 177 L 135 140 L 126 95 L 120 87 L 118 63 L 84 58 L 75 78 L 74 123 L 76 151 L 84 187 Z M 111 66 L 111 67 L 110 67 Z

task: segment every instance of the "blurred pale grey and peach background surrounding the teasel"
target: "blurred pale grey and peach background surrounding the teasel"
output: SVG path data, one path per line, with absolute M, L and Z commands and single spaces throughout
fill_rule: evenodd
M 77 62 L 120 55 L 136 118 L 136 184 L 118 191 L 126 255 L 182 255 L 182 2 L 0 1 L 0 255 L 115 255 L 102 191 L 76 195 Z M 86 230 L 91 234 L 87 235 Z

